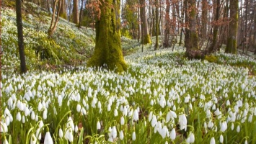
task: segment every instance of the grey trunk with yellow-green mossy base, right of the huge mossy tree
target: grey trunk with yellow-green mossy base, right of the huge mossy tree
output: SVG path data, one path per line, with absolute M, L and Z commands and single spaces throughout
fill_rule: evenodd
M 148 22 L 146 17 L 146 2 L 145 0 L 139 0 L 140 1 L 140 13 L 141 13 L 141 31 L 143 30 L 143 44 L 151 43 L 150 36 L 149 36 L 149 28 L 148 28 Z

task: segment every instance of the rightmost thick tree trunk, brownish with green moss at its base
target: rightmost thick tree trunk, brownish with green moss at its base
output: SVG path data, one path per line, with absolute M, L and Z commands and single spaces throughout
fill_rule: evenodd
M 229 36 L 225 53 L 237 53 L 238 0 L 230 0 Z

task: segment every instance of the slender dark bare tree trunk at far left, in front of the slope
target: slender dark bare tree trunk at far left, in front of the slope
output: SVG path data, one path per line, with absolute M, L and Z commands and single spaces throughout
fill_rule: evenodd
M 19 59 L 20 59 L 20 72 L 26 73 L 26 60 L 24 52 L 23 40 L 23 27 L 22 27 L 22 1 L 16 0 L 16 14 L 17 14 L 17 32 L 18 32 L 18 45 L 19 45 Z

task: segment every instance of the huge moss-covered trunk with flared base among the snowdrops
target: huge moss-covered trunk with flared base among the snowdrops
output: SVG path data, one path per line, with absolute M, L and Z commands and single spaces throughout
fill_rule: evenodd
M 96 45 L 87 66 L 107 67 L 117 72 L 127 69 L 120 40 L 120 0 L 100 0 L 100 19 L 96 22 Z

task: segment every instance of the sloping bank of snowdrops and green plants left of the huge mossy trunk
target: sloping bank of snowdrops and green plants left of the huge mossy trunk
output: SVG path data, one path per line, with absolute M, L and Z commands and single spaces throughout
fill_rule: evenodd
M 2 9 L 2 45 L 4 68 L 18 68 L 16 14 L 12 7 Z M 60 19 L 52 38 L 48 38 L 50 14 L 32 3 L 23 4 L 23 31 L 27 67 L 50 65 L 74 65 L 87 60 L 94 48 L 94 30 L 76 27 Z

